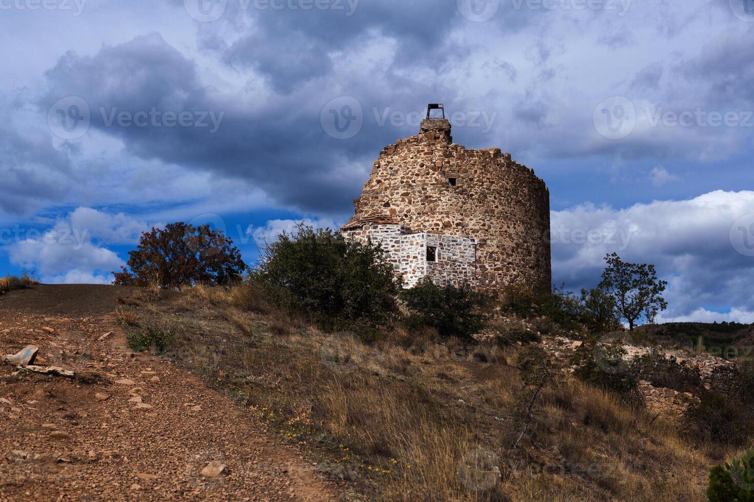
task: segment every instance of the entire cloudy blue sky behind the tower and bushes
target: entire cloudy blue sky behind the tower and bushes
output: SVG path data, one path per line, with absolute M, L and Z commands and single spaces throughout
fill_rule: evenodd
M 752 0 L 0 0 L 0 275 L 110 281 L 170 221 L 253 263 L 443 102 L 547 182 L 553 281 L 618 251 L 752 322 L 752 42 Z

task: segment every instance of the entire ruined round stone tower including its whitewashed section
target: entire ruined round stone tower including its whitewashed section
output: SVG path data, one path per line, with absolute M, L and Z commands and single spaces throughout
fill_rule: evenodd
M 344 235 L 382 245 L 407 288 L 429 276 L 495 297 L 509 284 L 550 291 L 544 181 L 500 148 L 453 143 L 444 115 L 430 105 L 418 135 L 380 152 Z

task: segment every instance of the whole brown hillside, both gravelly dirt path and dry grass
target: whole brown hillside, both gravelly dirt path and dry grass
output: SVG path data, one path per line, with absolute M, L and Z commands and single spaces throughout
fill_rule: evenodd
M 513 345 L 400 330 L 365 343 L 241 287 L 12 291 L 0 299 L 2 352 L 33 343 L 37 364 L 76 376 L 0 367 L 11 424 L 0 493 L 705 500 L 708 470 L 737 448 L 697 443 L 678 418 L 572 376 L 569 354 L 588 339 L 543 318 L 497 325 L 545 327 Z M 521 356 L 538 347 L 565 366 L 532 399 Z M 227 475 L 201 476 L 212 461 Z

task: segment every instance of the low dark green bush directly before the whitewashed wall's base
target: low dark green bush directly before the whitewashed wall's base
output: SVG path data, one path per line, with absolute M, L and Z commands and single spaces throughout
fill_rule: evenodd
M 425 277 L 413 288 L 402 291 L 400 297 L 413 318 L 434 327 L 440 336 L 471 339 L 489 319 L 486 297 L 472 291 L 468 284 L 441 285 Z

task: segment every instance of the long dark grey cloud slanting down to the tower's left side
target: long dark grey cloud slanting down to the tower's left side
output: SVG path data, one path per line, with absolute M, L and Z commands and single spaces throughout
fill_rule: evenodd
M 157 34 L 105 46 L 94 56 L 66 53 L 46 78 L 49 90 L 42 108 L 65 96 L 81 96 L 90 107 L 91 127 L 121 138 L 131 154 L 246 178 L 281 205 L 325 212 L 350 208 L 365 175 L 354 172 L 354 163 L 367 169 L 382 145 L 400 132 L 416 132 L 409 127 L 397 132 L 389 122 L 380 126 L 370 105 L 381 114 L 388 104 L 418 114 L 424 110 L 417 103 L 436 100 L 438 90 L 440 96 L 453 94 L 441 87 L 418 90 L 418 84 L 406 78 L 394 79 L 395 88 L 406 90 L 404 99 L 364 87 L 357 94 L 363 103 L 363 129 L 340 141 L 327 135 L 320 123 L 321 108 L 337 94 L 323 89 L 315 95 L 273 98 L 256 110 L 245 108 L 214 97 L 199 81 L 194 63 Z M 208 113 L 209 126 L 121 126 L 114 118 L 121 112 L 135 115 L 153 109 Z M 221 114 L 213 133 L 210 117 Z

